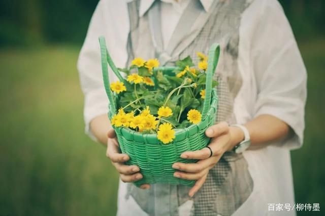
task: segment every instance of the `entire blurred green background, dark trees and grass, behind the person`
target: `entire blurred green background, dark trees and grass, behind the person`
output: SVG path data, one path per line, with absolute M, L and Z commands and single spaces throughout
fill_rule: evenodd
M 115 215 L 118 176 L 84 135 L 76 62 L 98 0 L 0 1 L 0 215 Z M 325 1 L 280 1 L 308 70 L 296 203 L 325 215 Z M 279 190 L 281 190 L 279 188 Z

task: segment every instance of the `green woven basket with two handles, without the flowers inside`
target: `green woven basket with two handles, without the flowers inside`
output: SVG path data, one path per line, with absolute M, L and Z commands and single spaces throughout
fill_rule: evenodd
M 114 65 L 103 36 L 99 37 L 102 58 L 102 70 L 105 90 L 110 102 L 108 116 L 111 119 L 116 113 L 116 105 L 113 94 L 110 90 L 107 63 L 116 76 L 122 81 L 123 77 Z M 142 184 L 169 183 L 192 186 L 194 180 L 178 179 L 173 176 L 175 169 L 172 165 L 175 162 L 194 163 L 197 160 L 182 159 L 180 155 L 185 151 L 196 151 L 206 147 L 210 138 L 205 136 L 207 127 L 215 122 L 217 113 L 218 97 L 216 89 L 212 90 L 212 78 L 218 64 L 220 47 L 213 44 L 208 55 L 208 68 L 206 78 L 206 95 L 202 110 L 202 121 L 192 124 L 184 129 L 177 129 L 175 139 L 169 144 L 163 144 L 155 134 L 141 134 L 125 127 L 114 127 L 118 143 L 122 153 L 129 155 L 127 165 L 137 165 L 143 178 L 135 182 L 136 186 Z M 154 70 L 171 71 L 177 67 L 157 67 Z

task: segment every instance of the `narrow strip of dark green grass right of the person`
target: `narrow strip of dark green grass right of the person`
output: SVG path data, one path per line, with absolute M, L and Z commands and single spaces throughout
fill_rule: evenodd
M 304 146 L 291 153 L 296 202 L 320 203 L 320 210 L 325 211 L 325 40 L 305 41 L 299 48 L 308 73 L 308 97 Z M 302 211 L 298 215 L 311 214 Z

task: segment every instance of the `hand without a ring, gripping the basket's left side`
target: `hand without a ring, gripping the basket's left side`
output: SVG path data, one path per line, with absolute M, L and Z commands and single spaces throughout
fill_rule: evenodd
M 117 171 L 120 174 L 122 182 L 135 182 L 143 178 L 142 174 L 139 172 L 140 168 L 136 165 L 125 165 L 123 162 L 128 161 L 130 158 L 127 154 L 122 154 L 116 139 L 116 134 L 114 129 L 109 129 L 107 133 L 107 151 L 106 156 L 112 161 Z M 150 185 L 143 184 L 141 189 L 149 189 Z

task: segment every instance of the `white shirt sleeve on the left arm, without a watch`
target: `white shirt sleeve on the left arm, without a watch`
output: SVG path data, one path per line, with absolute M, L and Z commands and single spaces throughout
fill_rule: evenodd
M 114 8 L 109 7 L 109 5 L 112 4 L 109 4 L 108 0 L 101 0 L 96 7 L 77 63 L 81 89 L 84 93 L 85 133 L 95 141 L 96 139 L 89 129 L 89 123 L 94 117 L 108 112 L 108 98 L 102 77 L 99 36 L 104 35 L 106 37 L 107 47 L 109 52 L 114 54 L 111 55 L 114 61 L 118 60 L 117 62 L 121 63 L 125 56 L 124 53 L 121 54 L 123 49 L 118 49 L 117 46 L 114 46 L 114 44 L 122 46 L 123 43 L 117 36 L 121 32 L 112 30 L 115 28 L 113 25 L 116 25 L 116 23 L 110 22 L 110 17 L 114 15 L 111 15 L 114 12 L 110 12 Z M 116 50 L 117 52 L 115 52 Z M 117 77 L 110 68 L 109 78 L 110 82 L 117 80 Z

